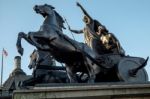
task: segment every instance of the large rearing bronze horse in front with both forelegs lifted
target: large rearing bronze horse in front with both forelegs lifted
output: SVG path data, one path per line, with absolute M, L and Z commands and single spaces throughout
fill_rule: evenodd
M 40 30 L 25 34 L 20 32 L 17 39 L 18 52 L 23 55 L 21 39 L 37 47 L 46 50 L 58 61 L 66 64 L 66 70 L 70 82 L 77 82 L 76 73 L 83 72 L 89 75 L 89 82 L 94 82 L 95 73 L 100 68 L 93 62 L 96 55 L 85 44 L 70 39 L 62 32 L 63 18 L 51 5 L 36 5 L 36 13 L 41 14 L 45 20 Z

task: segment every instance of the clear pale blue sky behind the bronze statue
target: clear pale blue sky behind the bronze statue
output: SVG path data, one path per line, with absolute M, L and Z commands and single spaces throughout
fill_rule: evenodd
M 33 6 L 45 3 L 53 5 L 67 19 L 71 28 L 82 29 L 83 13 L 76 6 L 77 1 L 92 18 L 116 35 L 126 55 L 150 56 L 150 0 L 0 0 L 0 51 L 5 48 L 8 52 L 8 56 L 4 57 L 3 81 L 13 71 L 14 57 L 19 55 L 16 49 L 18 33 L 38 31 L 42 25 L 44 19 L 34 12 Z M 64 33 L 72 38 L 68 29 Z M 77 41 L 84 41 L 83 35 L 74 36 Z M 25 40 L 22 40 L 22 46 L 24 55 L 21 57 L 21 67 L 26 74 L 31 75 L 29 56 L 35 47 Z M 150 62 L 145 68 L 150 76 Z

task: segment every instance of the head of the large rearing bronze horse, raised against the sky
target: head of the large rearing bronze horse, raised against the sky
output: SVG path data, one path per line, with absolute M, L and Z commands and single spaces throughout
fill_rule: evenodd
M 53 9 L 55 9 L 53 6 L 44 4 L 44 5 L 35 5 L 34 8 L 36 13 L 41 14 L 43 17 L 46 17 L 47 15 L 51 15 L 53 12 Z

